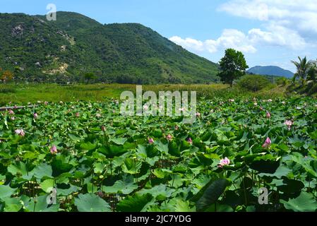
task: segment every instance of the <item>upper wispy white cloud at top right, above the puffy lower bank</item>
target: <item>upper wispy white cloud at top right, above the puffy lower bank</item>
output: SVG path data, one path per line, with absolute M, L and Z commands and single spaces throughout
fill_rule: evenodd
M 222 4 L 219 11 L 254 20 L 278 23 L 285 28 L 317 33 L 316 0 L 232 0 Z

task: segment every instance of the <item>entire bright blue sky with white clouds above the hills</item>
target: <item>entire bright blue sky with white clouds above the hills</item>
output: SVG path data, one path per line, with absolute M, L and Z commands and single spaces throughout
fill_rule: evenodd
M 297 56 L 317 58 L 316 0 L 1 0 L 0 12 L 44 15 L 47 4 L 100 23 L 141 23 L 215 62 L 228 47 L 249 66 L 294 71 Z

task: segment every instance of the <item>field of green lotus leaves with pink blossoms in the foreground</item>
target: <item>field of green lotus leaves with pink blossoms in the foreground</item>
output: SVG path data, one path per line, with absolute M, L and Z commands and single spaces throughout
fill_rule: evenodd
M 200 100 L 194 124 L 36 105 L 0 112 L 0 211 L 317 210 L 314 99 Z

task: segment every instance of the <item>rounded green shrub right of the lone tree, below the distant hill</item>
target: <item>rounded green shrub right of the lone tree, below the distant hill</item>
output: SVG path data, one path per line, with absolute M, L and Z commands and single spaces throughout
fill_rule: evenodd
M 246 90 L 256 92 L 269 86 L 270 81 L 268 81 L 268 78 L 265 78 L 264 76 L 246 75 L 238 81 L 238 85 Z

